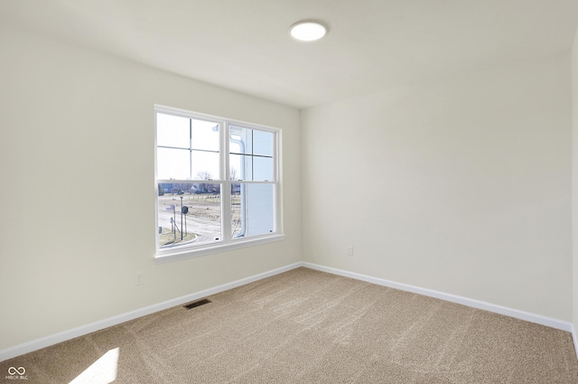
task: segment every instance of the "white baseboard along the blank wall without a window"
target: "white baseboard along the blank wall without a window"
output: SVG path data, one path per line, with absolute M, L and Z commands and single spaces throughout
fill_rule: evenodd
M 520 311 L 513 308 L 508 308 L 506 306 L 491 304 L 483 302 L 476 299 L 471 299 L 468 297 L 446 294 L 439 291 L 433 291 L 432 289 L 422 288 L 419 286 L 410 286 L 407 284 L 396 283 L 383 278 L 361 275 L 355 272 L 349 272 L 342 269 L 337 269 L 333 267 L 324 267 L 317 264 L 312 264 L 308 262 L 303 263 L 303 267 L 308 267 L 322 272 L 328 272 L 333 275 L 345 276 L 354 278 L 356 280 L 367 281 L 368 283 L 377 284 L 378 286 L 388 286 L 390 288 L 400 289 L 402 291 L 411 292 L 418 295 L 425 295 L 430 297 L 435 297 L 437 299 L 442 299 L 451 303 L 463 304 L 471 306 L 473 308 L 482 309 L 484 311 L 493 312 L 495 314 L 504 314 L 506 316 L 514 317 L 516 319 L 525 320 L 530 323 L 538 323 L 551 328 L 559 329 L 566 332 L 573 331 L 573 324 L 570 322 L 564 322 L 563 320 L 554 319 L 552 317 L 543 316 L 541 314 L 531 314 L 525 311 Z M 576 338 L 574 337 L 574 344 L 576 343 Z M 578 351 L 578 350 L 577 350 Z

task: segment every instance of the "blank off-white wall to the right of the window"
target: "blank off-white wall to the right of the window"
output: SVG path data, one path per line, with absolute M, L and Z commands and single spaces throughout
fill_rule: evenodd
M 304 110 L 305 261 L 571 321 L 569 62 Z

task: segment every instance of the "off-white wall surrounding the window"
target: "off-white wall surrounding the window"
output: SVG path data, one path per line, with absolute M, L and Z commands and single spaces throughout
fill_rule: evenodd
M 0 63 L 0 350 L 301 260 L 297 109 L 6 26 Z M 154 263 L 155 103 L 283 129 L 284 241 Z

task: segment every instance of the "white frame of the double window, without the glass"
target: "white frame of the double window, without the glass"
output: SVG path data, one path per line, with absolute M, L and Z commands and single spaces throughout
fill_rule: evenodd
M 209 120 L 215 122 L 222 126 L 223 129 L 219 130 L 219 159 L 220 159 L 220 175 L 218 180 L 213 180 L 210 183 L 221 184 L 220 188 L 220 201 L 221 201 L 221 239 L 215 243 L 202 243 L 202 244 L 185 244 L 182 246 L 175 246 L 172 248 L 161 248 L 159 245 L 159 206 L 158 206 L 158 185 L 159 183 L 191 183 L 191 180 L 161 180 L 157 177 L 157 143 L 156 143 L 156 117 L 157 113 L 168 114 L 173 116 L 187 117 L 187 118 L 197 118 L 202 120 Z M 274 159 L 274 180 L 259 182 L 259 181 L 243 181 L 242 183 L 266 183 L 272 184 L 274 188 L 274 226 L 275 229 L 271 233 L 267 233 L 259 236 L 251 236 L 241 239 L 231 239 L 231 184 L 239 183 L 238 181 L 229 180 L 229 126 L 238 126 L 249 129 L 256 129 L 260 131 L 266 131 L 273 133 L 275 135 L 275 143 L 273 148 L 273 159 Z M 259 244 L 266 244 L 273 241 L 279 241 L 284 239 L 283 232 L 283 217 L 282 217 L 282 191 L 281 191 L 281 129 L 262 126 L 255 123 L 248 123 L 244 121 L 238 121 L 233 119 L 228 119 L 226 117 L 216 117 L 199 112 L 192 112 L 180 108 L 171 108 L 161 105 L 154 105 L 154 218 L 155 218 L 155 253 L 154 258 L 157 263 L 164 263 L 169 261 L 175 261 L 185 258 L 196 258 L 200 256 L 210 255 L 214 253 L 224 252 L 232 249 L 252 247 Z

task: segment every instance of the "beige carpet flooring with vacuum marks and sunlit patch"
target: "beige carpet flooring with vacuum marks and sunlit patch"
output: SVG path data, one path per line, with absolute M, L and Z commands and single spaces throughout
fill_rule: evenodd
M 0 383 L 578 383 L 569 332 L 307 268 L 209 299 L 0 362 Z

